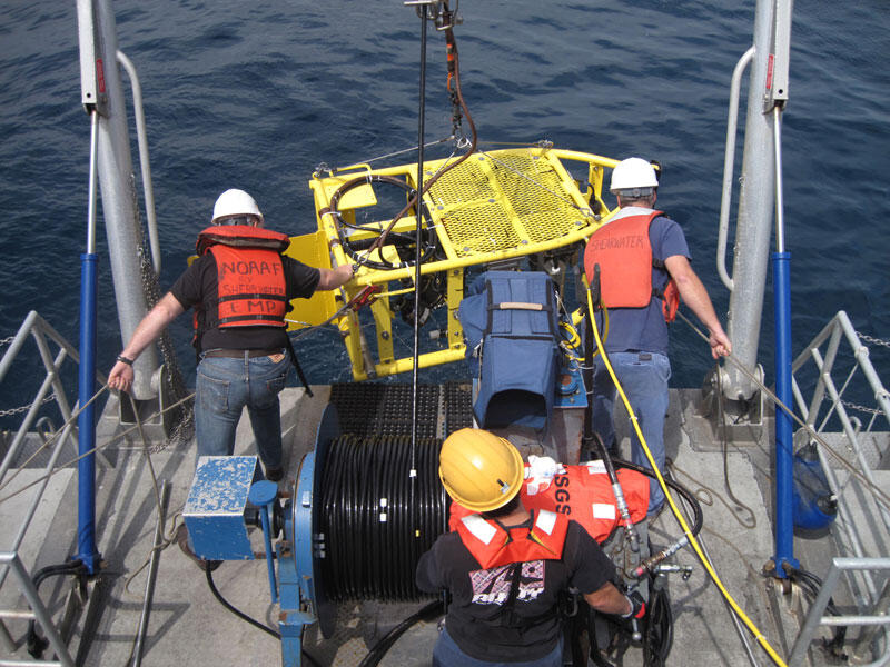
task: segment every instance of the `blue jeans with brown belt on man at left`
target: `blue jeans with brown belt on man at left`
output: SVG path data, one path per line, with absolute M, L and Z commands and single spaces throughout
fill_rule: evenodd
M 263 465 L 281 467 L 281 415 L 278 392 L 284 389 L 290 359 L 206 357 L 195 382 L 195 435 L 198 456 L 231 456 L 235 429 L 247 406 Z

